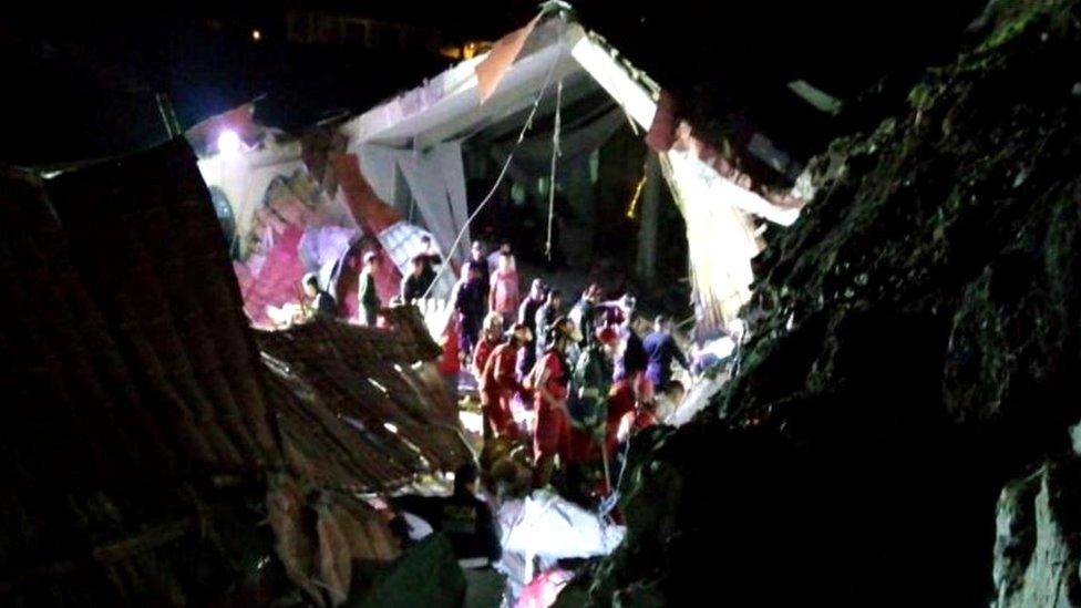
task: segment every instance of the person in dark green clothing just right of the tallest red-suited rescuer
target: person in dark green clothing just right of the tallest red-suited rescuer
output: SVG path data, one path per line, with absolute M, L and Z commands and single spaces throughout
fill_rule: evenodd
M 598 329 L 578 355 L 570 380 L 570 457 L 588 463 L 597 456 L 599 434 L 604 437 L 605 404 L 611 390 L 612 362 L 619 336 L 611 328 Z

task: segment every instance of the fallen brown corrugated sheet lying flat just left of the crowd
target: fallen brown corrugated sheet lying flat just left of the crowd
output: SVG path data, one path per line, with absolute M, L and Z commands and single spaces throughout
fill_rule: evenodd
M 384 316 L 390 331 L 312 322 L 257 333 L 287 457 L 323 484 L 379 490 L 470 457 L 444 384 L 422 371 L 439 352 L 423 320 L 412 308 Z

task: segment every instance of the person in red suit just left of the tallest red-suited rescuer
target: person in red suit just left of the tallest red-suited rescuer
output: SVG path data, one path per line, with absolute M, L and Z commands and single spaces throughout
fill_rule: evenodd
M 524 323 L 511 328 L 506 342 L 492 349 L 484 363 L 484 371 L 477 389 L 481 394 L 481 413 L 484 416 L 484 441 L 492 435 L 517 439 L 518 427 L 511 415 L 511 398 L 522 392 L 522 384 L 515 371 L 518 350 L 533 340 Z

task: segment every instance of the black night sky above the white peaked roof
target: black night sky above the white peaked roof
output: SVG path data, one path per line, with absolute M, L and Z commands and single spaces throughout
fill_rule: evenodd
M 447 65 L 421 53 L 285 44 L 291 8 L 494 40 L 536 7 L 397 0 L 0 18 L 0 73 L 16 83 L 0 118 L 0 159 L 49 164 L 152 145 L 165 136 L 155 91 L 169 94 L 184 126 L 266 93 L 261 117 L 298 128 L 338 109 L 361 111 Z M 841 126 L 789 93 L 786 82 L 802 78 L 851 99 L 883 76 L 910 81 L 956 52 L 981 2 L 581 0 L 575 8 L 587 28 L 692 102 L 698 122 L 739 115 L 810 154 Z M 208 28 L 207 18 L 220 28 Z M 258 44 L 255 28 L 265 32 Z

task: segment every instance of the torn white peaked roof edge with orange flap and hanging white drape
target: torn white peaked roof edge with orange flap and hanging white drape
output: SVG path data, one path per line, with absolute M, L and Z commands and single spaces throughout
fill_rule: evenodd
M 543 13 L 491 52 L 373 107 L 346 123 L 341 133 L 379 197 L 394 200 L 395 189 L 408 187 L 443 250 L 457 243 L 452 254 L 464 257 L 470 207 L 463 143 L 506 133 L 512 123 L 521 128 L 529 117 L 540 120 L 557 105 L 568 107 L 598 94 L 610 97 L 619 116 L 662 157 L 665 177 L 690 227 L 703 321 L 730 320 L 750 296 L 750 258 L 761 248 L 752 218 L 789 225 L 802 203 L 755 184 L 738 158 L 694 137 L 659 85 L 567 12 Z M 754 142 L 752 152 L 762 161 L 791 169 L 766 137 L 758 135 Z M 460 233 L 465 238 L 456 238 Z M 723 238 L 714 238 L 718 234 Z

